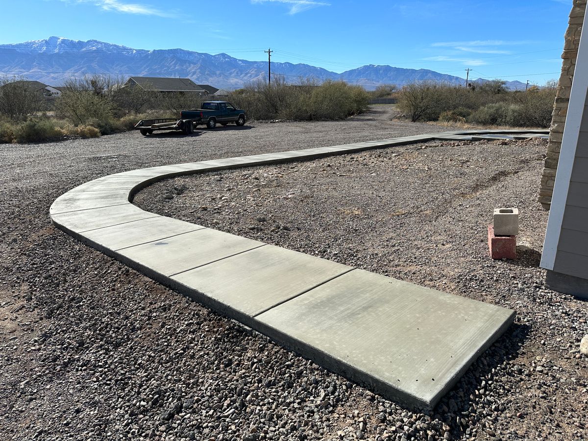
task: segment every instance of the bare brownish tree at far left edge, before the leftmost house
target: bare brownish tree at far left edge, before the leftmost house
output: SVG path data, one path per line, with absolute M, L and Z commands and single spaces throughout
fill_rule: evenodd
M 0 78 L 0 114 L 18 120 L 42 109 L 42 93 L 31 91 L 24 78 Z

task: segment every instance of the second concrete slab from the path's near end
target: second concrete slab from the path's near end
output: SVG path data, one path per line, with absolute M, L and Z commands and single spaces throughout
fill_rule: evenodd
M 255 316 L 352 269 L 266 245 L 172 279 L 239 313 Z

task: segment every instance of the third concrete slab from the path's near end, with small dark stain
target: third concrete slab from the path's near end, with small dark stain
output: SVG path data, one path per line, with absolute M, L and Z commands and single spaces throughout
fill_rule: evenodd
M 263 245 L 258 240 L 205 228 L 125 248 L 118 253 L 144 268 L 171 276 Z

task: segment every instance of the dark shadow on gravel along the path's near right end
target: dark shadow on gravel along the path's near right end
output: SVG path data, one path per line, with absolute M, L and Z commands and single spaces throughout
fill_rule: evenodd
M 471 435 L 476 423 L 505 412 L 506 406 L 500 400 L 505 389 L 529 375 L 521 366 L 513 365 L 527 339 L 530 326 L 513 323 L 504 335 L 473 362 L 466 373 L 437 404 L 429 415 L 442 420 L 451 427 L 452 439 Z

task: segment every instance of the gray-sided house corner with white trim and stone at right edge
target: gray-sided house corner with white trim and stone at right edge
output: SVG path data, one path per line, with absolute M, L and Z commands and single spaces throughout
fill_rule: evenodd
M 580 19 L 586 14 L 585 8 L 583 4 L 582 8 L 572 10 L 577 17 L 570 19 L 570 26 L 582 26 Z M 567 35 L 574 33 L 567 32 Z M 561 142 L 556 155 L 549 146 L 547 151 L 548 159 L 550 155 L 551 159 L 557 158 L 557 172 L 540 266 L 547 270 L 548 288 L 588 299 L 588 33 L 583 33 L 573 45 L 566 41 L 566 48 L 572 47 L 577 48 L 577 59 L 571 64 L 575 65 L 575 71 L 567 95 L 569 101 L 566 99 L 567 108 L 563 115 L 556 113 L 559 111 L 559 101 L 556 101 L 553 112 L 554 118 L 560 118 L 553 121 L 565 122 L 563 136 L 557 133 L 561 138 L 556 139 Z M 564 63 L 562 71 L 568 68 Z M 569 90 L 570 76 L 564 74 L 559 88 Z M 552 125 L 550 142 L 553 135 Z

